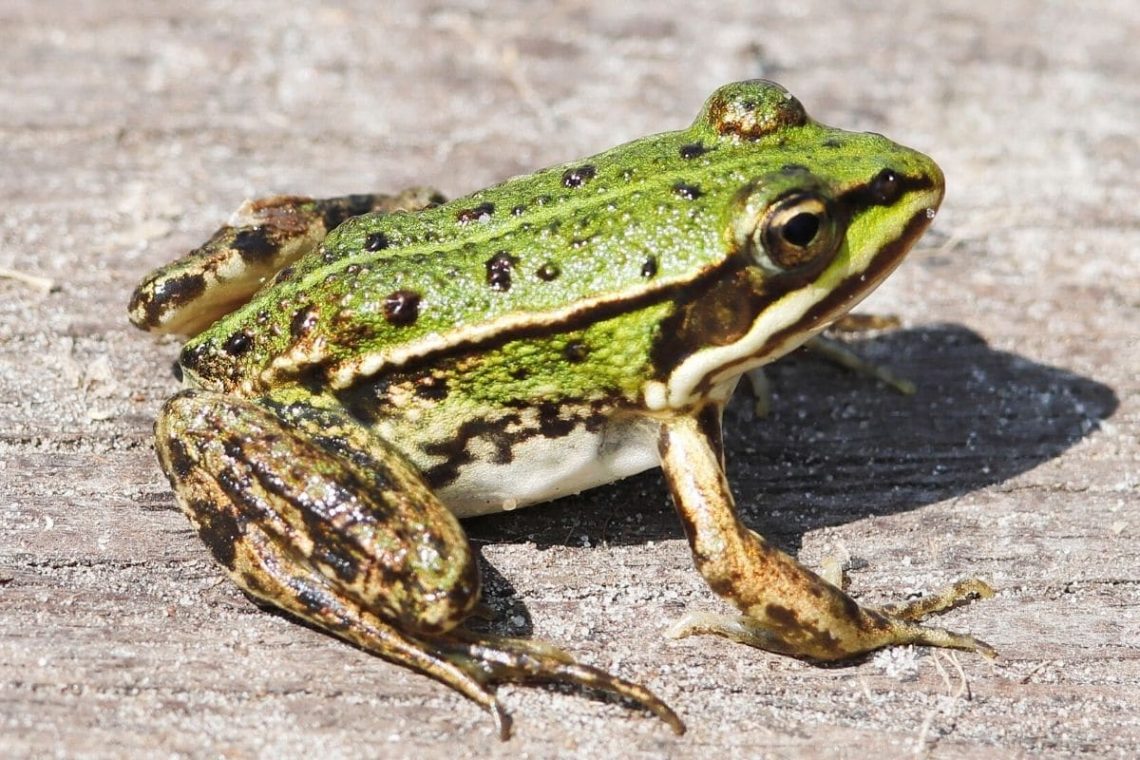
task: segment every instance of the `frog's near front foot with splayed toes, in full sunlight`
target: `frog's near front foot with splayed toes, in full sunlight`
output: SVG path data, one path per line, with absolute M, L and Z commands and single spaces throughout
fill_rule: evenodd
M 806 569 L 805 573 L 808 573 Z M 994 595 L 988 583 L 970 579 L 937 594 L 906 604 L 864 607 L 822 578 L 809 587 L 809 596 L 822 593 L 829 604 L 800 607 L 795 600 L 768 604 L 759 615 L 692 613 L 668 631 L 673 638 L 711 634 L 768 652 L 817 661 L 836 661 L 894 645 L 934 646 L 977 652 L 994 659 L 997 652 L 967 634 L 921 624 L 927 616 L 974 599 Z M 814 602 L 813 599 L 813 602 Z

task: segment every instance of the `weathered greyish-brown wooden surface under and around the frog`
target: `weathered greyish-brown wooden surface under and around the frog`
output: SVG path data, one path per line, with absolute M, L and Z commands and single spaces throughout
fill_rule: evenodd
M 302 5 L 302 3 L 298 3 Z M 0 755 L 1124 757 L 1140 745 L 1140 5 L 123 0 L 0 6 Z M 712 6 L 717 10 L 712 10 Z M 193 9 L 192 9 L 193 8 Z M 177 344 L 148 269 L 246 196 L 456 195 L 686 124 L 768 76 L 944 167 L 933 232 L 857 341 L 901 398 L 812 359 L 730 414 L 759 531 L 1001 659 L 816 668 L 662 637 L 720 610 L 657 473 L 470 524 L 506 630 L 644 680 L 624 705 L 456 694 L 250 605 L 173 507 L 150 423 Z

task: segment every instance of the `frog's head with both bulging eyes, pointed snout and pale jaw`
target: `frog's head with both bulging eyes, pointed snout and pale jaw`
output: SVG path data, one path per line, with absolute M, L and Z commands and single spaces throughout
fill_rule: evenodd
M 902 261 L 942 202 L 942 171 L 874 133 L 812 121 L 783 88 L 720 88 L 692 131 L 739 157 L 722 218 L 722 276 L 685 307 L 665 406 L 731 387 L 820 333 Z

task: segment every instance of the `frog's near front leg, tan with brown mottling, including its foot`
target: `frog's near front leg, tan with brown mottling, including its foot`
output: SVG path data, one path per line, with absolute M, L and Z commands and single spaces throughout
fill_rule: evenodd
M 691 618 L 675 636 L 717 634 L 812 660 L 842 660 L 893 644 L 994 656 L 990 645 L 972 636 L 913 622 L 964 598 L 992 595 L 984 582 L 959 583 L 920 606 L 863 607 L 746 528 L 724 474 L 719 408 L 710 404 L 663 423 L 659 448 L 698 570 L 718 596 L 743 613 Z

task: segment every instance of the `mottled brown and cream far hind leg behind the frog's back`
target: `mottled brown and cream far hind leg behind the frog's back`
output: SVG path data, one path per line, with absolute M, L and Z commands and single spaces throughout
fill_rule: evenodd
M 156 333 L 197 333 L 249 301 L 266 279 L 314 251 L 345 219 L 418 211 L 442 201 L 423 187 L 396 195 L 246 201 L 202 246 L 142 280 L 131 296 L 131 322 Z

